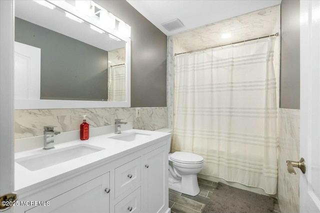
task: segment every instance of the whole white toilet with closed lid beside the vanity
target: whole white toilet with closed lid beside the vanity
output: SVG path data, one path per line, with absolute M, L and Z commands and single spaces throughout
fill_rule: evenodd
M 172 132 L 170 128 L 156 131 Z M 171 141 L 168 144 L 170 152 Z M 196 174 L 202 169 L 203 157 L 184 151 L 169 153 L 169 188 L 195 196 L 200 192 Z

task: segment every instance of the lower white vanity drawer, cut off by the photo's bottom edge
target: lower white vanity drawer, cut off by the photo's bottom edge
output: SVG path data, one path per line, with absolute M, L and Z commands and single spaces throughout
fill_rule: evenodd
M 140 212 L 141 189 L 138 187 L 114 206 L 115 213 Z

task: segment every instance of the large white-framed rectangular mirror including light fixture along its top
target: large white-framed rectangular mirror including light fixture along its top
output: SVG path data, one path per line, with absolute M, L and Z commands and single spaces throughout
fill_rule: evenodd
M 130 39 L 92 2 L 15 1 L 16 109 L 130 106 Z

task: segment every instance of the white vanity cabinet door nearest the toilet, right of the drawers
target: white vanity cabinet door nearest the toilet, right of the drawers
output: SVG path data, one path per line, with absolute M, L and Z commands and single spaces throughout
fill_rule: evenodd
M 143 212 L 163 212 L 167 206 L 167 164 L 166 145 L 163 145 L 143 156 Z M 166 168 L 166 169 L 165 169 Z

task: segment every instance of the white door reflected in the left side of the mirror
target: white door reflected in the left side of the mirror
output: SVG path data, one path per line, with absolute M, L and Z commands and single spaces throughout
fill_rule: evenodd
M 14 42 L 14 97 L 40 99 L 41 49 Z

